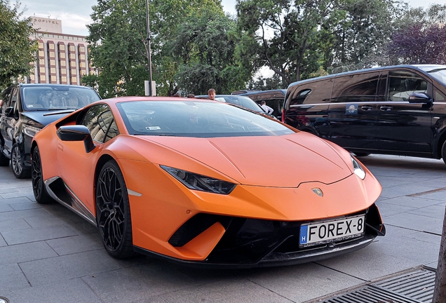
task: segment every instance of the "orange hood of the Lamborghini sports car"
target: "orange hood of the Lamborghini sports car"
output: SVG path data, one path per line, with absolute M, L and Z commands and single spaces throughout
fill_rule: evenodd
M 174 149 L 245 185 L 298 187 L 313 181 L 330 184 L 352 174 L 329 144 L 303 132 L 277 137 L 142 139 Z

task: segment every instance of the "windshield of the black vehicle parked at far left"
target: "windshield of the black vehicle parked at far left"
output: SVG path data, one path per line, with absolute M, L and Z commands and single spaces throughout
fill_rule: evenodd
M 22 96 L 29 111 L 79 109 L 100 100 L 94 90 L 79 86 L 24 86 Z

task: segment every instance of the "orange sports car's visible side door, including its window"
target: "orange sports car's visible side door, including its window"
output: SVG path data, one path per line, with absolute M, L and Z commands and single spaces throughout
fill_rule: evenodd
M 83 142 L 59 139 L 58 161 L 62 180 L 94 214 L 94 176 L 97 159 L 101 155 L 104 143 L 116 137 L 119 131 L 108 105 L 90 107 L 80 124 L 90 130 L 95 149 L 87 153 Z M 75 170 L 72 169 L 73 166 L 76 166 Z

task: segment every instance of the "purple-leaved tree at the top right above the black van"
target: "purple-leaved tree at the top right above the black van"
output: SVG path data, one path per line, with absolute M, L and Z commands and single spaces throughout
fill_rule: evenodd
M 393 64 L 446 64 L 446 5 L 418 8 L 392 35 L 388 54 Z

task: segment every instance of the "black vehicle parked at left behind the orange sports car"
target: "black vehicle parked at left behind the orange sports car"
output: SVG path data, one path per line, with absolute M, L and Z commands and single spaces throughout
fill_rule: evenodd
M 92 88 L 62 84 L 18 84 L 1 94 L 0 166 L 15 177 L 30 176 L 32 137 L 48 123 L 100 100 Z

